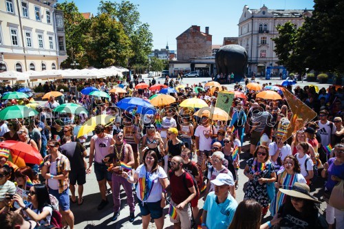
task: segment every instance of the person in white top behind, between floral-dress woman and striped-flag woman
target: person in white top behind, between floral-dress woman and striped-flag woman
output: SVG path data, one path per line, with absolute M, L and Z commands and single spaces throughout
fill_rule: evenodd
M 276 173 L 282 166 L 282 162 L 287 155 L 292 155 L 292 148 L 286 142 L 283 142 L 285 133 L 281 130 L 277 131 L 275 142 L 269 144 L 269 155 L 271 162 L 275 165 Z

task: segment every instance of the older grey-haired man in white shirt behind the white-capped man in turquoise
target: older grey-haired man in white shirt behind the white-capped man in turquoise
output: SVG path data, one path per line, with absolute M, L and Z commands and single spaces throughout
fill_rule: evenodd
M 221 149 L 220 149 L 221 150 Z M 209 157 L 209 160 L 211 161 L 211 166 L 208 168 L 208 182 L 206 184 L 206 193 L 209 193 L 214 190 L 214 184 L 211 182 L 213 179 L 219 175 L 219 173 L 226 173 L 228 174 L 232 180 L 233 179 L 233 174 L 230 173 L 228 168 L 224 166 L 224 153 L 221 151 L 215 151 L 211 157 Z M 235 198 L 235 187 L 234 187 L 234 182 L 233 185 L 230 186 L 230 195 L 232 195 Z

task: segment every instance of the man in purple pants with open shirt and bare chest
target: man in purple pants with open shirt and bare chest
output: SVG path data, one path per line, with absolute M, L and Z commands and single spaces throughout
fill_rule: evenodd
M 114 216 L 112 221 L 116 221 L 118 215 L 120 215 L 120 185 L 125 189 L 125 194 L 127 195 L 127 203 L 130 210 L 129 221 L 133 222 L 135 219 L 135 203 L 133 200 L 133 188 L 131 184 L 122 177 L 123 167 L 120 166 L 120 162 L 124 162 L 128 166 L 134 164 L 133 158 L 133 149 L 130 144 L 123 142 L 123 133 L 114 129 L 114 140 L 115 144 L 110 146 L 109 153 L 114 153 L 113 168 L 112 172 L 112 188 L 113 188 L 113 197 L 114 197 Z M 127 171 L 128 172 L 128 171 Z M 130 171 L 128 172 L 130 173 Z

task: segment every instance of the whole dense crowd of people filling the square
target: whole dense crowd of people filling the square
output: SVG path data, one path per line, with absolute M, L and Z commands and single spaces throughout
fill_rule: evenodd
M 334 228 L 334 224 L 344 228 L 343 201 L 333 200 L 343 193 L 344 183 L 343 87 L 316 92 L 315 87 L 292 90 L 288 86 L 317 116 L 286 138 L 294 114 L 283 94 L 282 100 L 264 100 L 256 97 L 258 91 L 236 83 L 235 91 L 246 96 L 233 100 L 230 120 L 213 120 L 209 112 L 194 116 L 197 109 L 179 105 L 188 98 L 200 98 L 215 107 L 219 91 L 227 91 L 226 87 L 202 83 L 178 87 L 178 80 L 166 78 L 162 86 L 178 87 L 171 94 L 176 102 L 156 107 L 154 115 L 116 107 L 127 97 L 149 101 L 158 94 L 150 87 L 160 82 L 153 78 L 147 87 L 136 89 L 144 83 L 139 79 L 127 84 L 127 93 L 110 93 L 111 81 L 83 83 L 109 92 L 110 99 L 50 96 L 36 107 L 39 115 L 0 121 L 1 140 L 25 142 L 43 157 L 41 164 L 18 166 L 10 151 L 0 149 L 1 228 L 74 228 L 70 205 L 83 205 L 86 175 L 93 172 L 100 193 L 98 210 L 109 204 L 111 190 L 111 220 L 116 221 L 122 186 L 129 221 L 135 221 L 138 204 L 142 228 L 148 228 L 151 220 L 156 228 L 163 228 L 165 206 L 174 228 Z M 264 90 L 269 85 L 262 86 Z M 89 115 L 53 111 L 65 102 L 85 107 Z M 98 115 L 115 118 L 96 124 L 92 138 L 78 134 L 89 118 Z M 239 177 L 239 169 L 246 177 Z M 239 182 L 247 182 L 244 190 L 238 189 Z M 317 184 L 324 188 L 325 218 L 321 201 L 310 195 Z M 237 201 L 239 192 L 244 201 Z M 268 211 L 273 218 L 263 223 Z

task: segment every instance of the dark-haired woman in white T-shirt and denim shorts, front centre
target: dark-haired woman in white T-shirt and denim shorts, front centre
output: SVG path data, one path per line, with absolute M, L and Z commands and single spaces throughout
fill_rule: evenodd
M 130 183 L 138 182 L 136 195 L 142 215 L 142 228 L 147 229 L 150 219 L 154 219 L 156 228 L 162 229 L 163 209 L 166 205 L 166 193 L 163 190 L 169 186 L 169 179 L 164 169 L 158 165 L 157 153 L 147 151 L 143 164 L 138 166 L 134 175 L 131 177 L 123 172 L 123 177 Z

